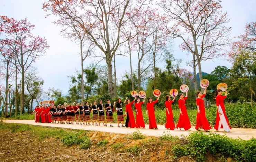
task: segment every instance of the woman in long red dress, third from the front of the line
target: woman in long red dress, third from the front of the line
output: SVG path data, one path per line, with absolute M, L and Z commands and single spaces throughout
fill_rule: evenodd
M 183 93 L 179 94 L 180 99 L 178 100 L 179 109 L 180 109 L 180 117 L 178 124 L 176 126 L 177 129 L 184 128 L 185 130 L 189 130 L 191 128 L 190 121 L 189 121 L 189 115 L 186 109 L 186 99 L 188 99 L 188 92 L 186 92 L 186 96 L 184 97 Z

